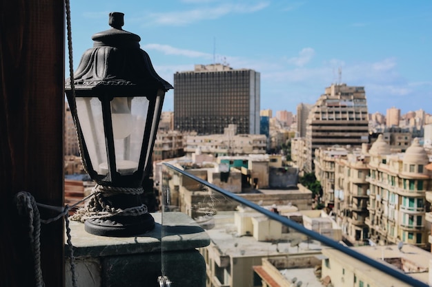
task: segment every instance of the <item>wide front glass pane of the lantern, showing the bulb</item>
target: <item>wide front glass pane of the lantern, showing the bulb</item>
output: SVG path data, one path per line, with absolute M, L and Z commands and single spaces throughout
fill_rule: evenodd
M 121 175 L 138 169 L 149 103 L 146 97 L 119 97 L 111 101 L 115 162 Z

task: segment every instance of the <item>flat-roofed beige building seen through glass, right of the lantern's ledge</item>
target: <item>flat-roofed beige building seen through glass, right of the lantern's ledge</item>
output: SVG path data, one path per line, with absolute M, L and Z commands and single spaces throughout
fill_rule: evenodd
M 335 222 L 332 224 L 330 217 L 320 217 L 320 211 L 297 211 L 289 205 L 277 205 L 276 209 L 306 228 L 324 236 L 335 236 L 335 240 L 340 238 L 340 230 L 333 229 Z M 320 286 L 316 285 L 320 281 L 314 275 L 314 270 L 322 264 L 320 242 L 307 240 L 306 235 L 248 208 L 218 212 L 214 220 L 215 226 L 207 231 L 210 245 L 200 248 L 206 261 L 207 287 L 268 286 L 264 285 L 269 273 L 268 268 L 262 268 L 263 259 L 284 268 L 290 280 L 296 277 L 301 281 L 302 276 L 307 276 L 304 286 L 307 282 L 311 287 Z M 283 284 L 283 280 L 277 283 Z

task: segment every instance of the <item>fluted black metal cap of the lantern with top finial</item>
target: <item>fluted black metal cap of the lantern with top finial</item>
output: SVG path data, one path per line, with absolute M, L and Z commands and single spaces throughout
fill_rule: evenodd
M 150 57 L 140 49 L 141 38 L 121 28 L 124 14 L 111 12 L 109 16 L 111 28 L 92 36 L 93 47 L 84 52 L 75 70 L 77 94 L 85 96 L 96 90 L 106 93 L 119 89 L 118 92 L 128 96 L 173 89 L 155 72 Z M 65 82 L 66 92 L 70 92 L 70 78 Z

